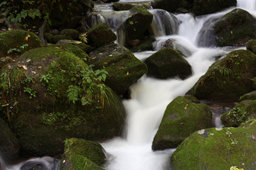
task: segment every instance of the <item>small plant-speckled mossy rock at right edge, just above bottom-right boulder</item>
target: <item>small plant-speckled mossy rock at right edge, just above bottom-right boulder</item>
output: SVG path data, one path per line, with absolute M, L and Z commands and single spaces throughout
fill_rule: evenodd
M 238 127 L 253 118 L 256 118 L 256 100 L 244 100 L 222 114 L 221 122 L 225 127 Z

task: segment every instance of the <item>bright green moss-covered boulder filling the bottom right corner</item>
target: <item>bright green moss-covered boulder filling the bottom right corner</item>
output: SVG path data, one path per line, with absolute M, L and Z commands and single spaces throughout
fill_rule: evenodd
M 246 128 L 211 128 L 186 138 L 171 156 L 174 170 L 255 169 L 256 125 Z

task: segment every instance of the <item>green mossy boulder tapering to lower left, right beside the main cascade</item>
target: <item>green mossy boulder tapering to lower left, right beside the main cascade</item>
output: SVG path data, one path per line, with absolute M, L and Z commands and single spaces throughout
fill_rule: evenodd
M 179 96 L 168 104 L 152 143 L 152 150 L 180 145 L 191 133 L 212 128 L 212 112 L 206 104 L 195 104 Z

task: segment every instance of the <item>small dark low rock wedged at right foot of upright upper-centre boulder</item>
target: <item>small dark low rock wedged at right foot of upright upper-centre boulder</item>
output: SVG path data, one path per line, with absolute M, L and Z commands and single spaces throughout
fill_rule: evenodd
M 139 44 L 137 46 L 134 46 L 130 50 L 133 53 L 143 52 L 143 51 L 146 51 L 146 50 L 152 50 L 153 49 L 153 43 L 155 41 L 156 41 L 155 38 L 148 37 L 147 39 L 142 40 L 141 42 L 139 42 Z

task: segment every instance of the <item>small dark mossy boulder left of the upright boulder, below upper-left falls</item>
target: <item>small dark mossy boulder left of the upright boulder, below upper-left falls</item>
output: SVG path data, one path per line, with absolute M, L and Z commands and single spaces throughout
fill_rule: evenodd
M 93 46 L 99 47 L 109 42 L 115 41 L 117 36 L 106 23 L 101 23 L 88 31 L 88 39 L 93 42 Z

